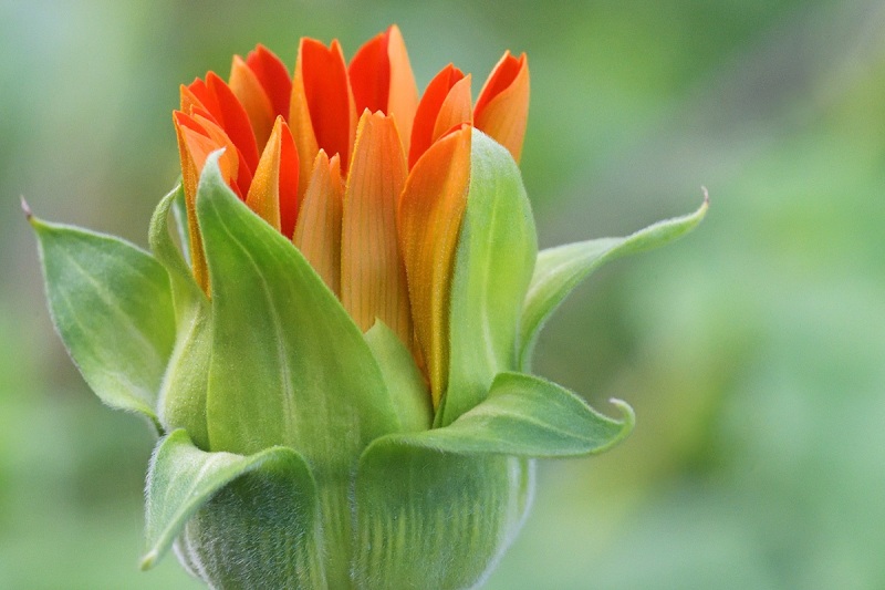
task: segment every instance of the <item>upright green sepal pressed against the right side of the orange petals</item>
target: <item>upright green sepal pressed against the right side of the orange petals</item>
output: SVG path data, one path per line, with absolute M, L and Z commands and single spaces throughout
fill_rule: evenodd
M 517 369 L 522 302 L 538 238 L 519 167 L 473 131 L 470 188 L 451 287 L 449 383 L 437 425 L 481 402 L 494 375 Z

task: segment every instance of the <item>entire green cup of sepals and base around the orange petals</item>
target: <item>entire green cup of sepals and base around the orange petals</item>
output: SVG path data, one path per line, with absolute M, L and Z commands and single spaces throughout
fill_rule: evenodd
M 152 567 L 175 546 L 217 588 L 467 588 L 524 519 L 535 457 L 602 452 L 633 427 L 528 374 L 538 331 L 602 262 L 670 241 L 705 215 L 537 251 L 510 154 L 473 132 L 450 309 L 449 385 L 434 415 L 407 348 L 365 334 L 304 257 L 222 180 L 197 216 L 211 298 L 167 226 L 153 256 L 31 222 L 52 317 L 96 394 L 162 438 L 147 484 Z M 185 248 L 187 251 L 187 248 Z

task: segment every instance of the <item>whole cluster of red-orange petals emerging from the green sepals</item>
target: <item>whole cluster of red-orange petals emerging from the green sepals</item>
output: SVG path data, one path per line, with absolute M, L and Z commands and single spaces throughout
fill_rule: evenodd
M 197 185 L 223 148 L 223 179 L 292 239 L 364 331 L 384 322 L 424 368 L 435 404 L 446 387 L 448 306 L 470 179 L 471 128 L 519 159 L 529 104 L 524 54 L 494 66 L 476 103 L 449 64 L 419 97 L 395 25 L 347 64 L 337 41 L 302 39 L 294 73 L 258 45 L 228 82 L 181 86 L 174 113 L 191 263 L 209 291 Z

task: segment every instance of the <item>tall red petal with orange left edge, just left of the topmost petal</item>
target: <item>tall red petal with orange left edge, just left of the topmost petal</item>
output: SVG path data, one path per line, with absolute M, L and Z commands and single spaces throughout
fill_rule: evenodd
M 303 198 L 320 149 L 339 154 L 344 170 L 350 164 L 356 111 L 337 41 L 326 48 L 313 39 L 301 40 L 289 108 L 301 162 L 299 197 Z

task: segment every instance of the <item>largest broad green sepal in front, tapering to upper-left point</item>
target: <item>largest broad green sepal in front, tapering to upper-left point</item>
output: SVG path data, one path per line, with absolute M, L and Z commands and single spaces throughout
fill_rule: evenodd
M 363 334 L 301 252 L 228 188 L 218 153 L 197 194 L 212 293 L 212 449 L 273 445 L 355 463 L 398 427 Z

